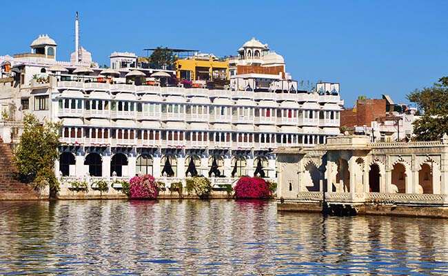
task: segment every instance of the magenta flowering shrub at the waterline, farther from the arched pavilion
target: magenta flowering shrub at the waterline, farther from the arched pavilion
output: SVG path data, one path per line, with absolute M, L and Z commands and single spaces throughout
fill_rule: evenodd
M 129 193 L 132 199 L 155 199 L 159 195 L 159 184 L 152 175 L 132 177 L 129 181 Z

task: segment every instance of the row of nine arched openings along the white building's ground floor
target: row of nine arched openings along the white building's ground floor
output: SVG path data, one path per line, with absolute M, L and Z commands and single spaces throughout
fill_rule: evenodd
M 142 154 L 139 155 L 139 157 L 136 158 L 136 173 L 141 173 L 143 175 L 150 174 L 153 175 L 154 171 L 154 159 L 152 155 Z M 70 166 L 75 166 L 76 160 L 74 158 L 74 155 L 72 152 L 63 152 L 61 156 L 59 157 L 59 170 L 61 171 L 62 176 L 69 176 L 70 175 Z M 129 161 L 128 157 L 123 153 L 116 153 L 112 156 L 112 159 L 110 161 L 110 175 L 113 175 L 114 173 L 116 176 L 124 176 L 125 171 L 123 171 L 124 166 L 128 166 Z M 185 158 L 185 168 L 188 168 L 189 166 L 192 166 L 193 164 L 195 169 L 198 169 L 201 167 L 201 157 L 198 155 L 188 155 Z M 243 175 L 247 175 L 247 160 L 243 156 L 235 156 L 232 158 L 231 161 L 232 170 L 231 174 L 232 177 L 240 177 Z M 96 152 L 90 152 L 88 155 L 85 156 L 84 159 L 84 166 L 88 166 L 88 172 L 89 175 L 94 177 L 101 177 L 103 176 L 103 160 L 101 158 L 101 155 Z M 176 155 L 164 155 L 161 158 L 161 171 L 167 170 L 167 166 L 170 166 L 170 170 L 167 172 L 168 177 L 176 177 L 177 175 L 177 158 Z M 261 177 L 264 177 L 267 175 L 267 168 L 268 167 L 268 159 L 267 157 L 256 157 L 254 159 L 254 170 L 258 170 L 258 175 Z M 213 168 L 213 170 L 212 170 Z M 208 157 L 208 171 L 209 176 L 213 174 L 216 177 L 223 176 L 224 175 L 224 159 L 220 155 L 212 155 Z M 188 169 L 185 170 L 185 176 L 188 175 L 188 172 L 190 172 L 191 176 L 195 176 L 192 171 L 188 171 Z M 197 170 L 196 170 L 197 172 Z M 162 173 L 163 174 L 163 173 Z

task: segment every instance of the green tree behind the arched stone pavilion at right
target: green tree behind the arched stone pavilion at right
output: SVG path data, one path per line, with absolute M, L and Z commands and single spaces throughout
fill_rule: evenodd
M 413 123 L 415 141 L 436 141 L 448 133 L 448 77 L 441 77 L 429 88 L 414 90 L 407 99 L 424 112 Z

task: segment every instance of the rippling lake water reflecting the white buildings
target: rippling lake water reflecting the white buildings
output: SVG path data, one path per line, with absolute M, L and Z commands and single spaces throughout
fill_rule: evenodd
M 267 201 L 0 201 L 0 275 L 448 274 L 448 220 Z

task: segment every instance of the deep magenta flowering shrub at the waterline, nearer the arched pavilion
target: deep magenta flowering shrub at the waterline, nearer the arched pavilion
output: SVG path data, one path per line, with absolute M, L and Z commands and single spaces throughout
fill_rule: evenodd
M 237 199 L 268 199 L 271 195 L 269 185 L 259 177 L 241 177 L 234 191 Z

